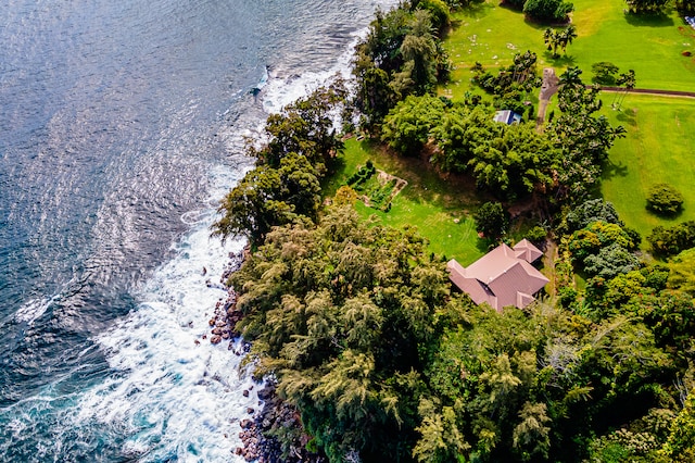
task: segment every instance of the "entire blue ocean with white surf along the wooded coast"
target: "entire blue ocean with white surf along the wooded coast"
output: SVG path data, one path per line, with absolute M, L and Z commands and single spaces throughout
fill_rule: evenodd
M 394 3 L 2 2 L 0 461 L 237 459 L 253 383 L 195 340 L 244 242 L 210 225 L 244 137 Z

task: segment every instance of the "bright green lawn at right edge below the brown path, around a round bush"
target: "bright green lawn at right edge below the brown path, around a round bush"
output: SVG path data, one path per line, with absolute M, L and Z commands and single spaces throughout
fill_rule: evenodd
M 612 111 L 612 95 L 603 97 L 611 124 L 628 130 L 610 150 L 604 198 L 643 238 L 657 225 L 695 220 L 695 99 L 628 95 L 622 111 Z M 684 211 L 678 217 L 662 218 L 645 209 L 647 192 L 658 183 L 683 193 Z M 647 246 L 643 241 L 642 247 Z

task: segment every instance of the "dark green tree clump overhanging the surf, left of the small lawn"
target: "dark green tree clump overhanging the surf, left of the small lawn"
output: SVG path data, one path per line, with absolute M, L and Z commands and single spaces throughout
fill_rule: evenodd
M 268 116 L 267 143 L 250 148 L 257 166 L 223 199 L 215 235 L 243 235 L 255 245 L 273 226 L 316 218 L 326 163 L 342 147 L 330 114 L 344 97 L 336 83 Z

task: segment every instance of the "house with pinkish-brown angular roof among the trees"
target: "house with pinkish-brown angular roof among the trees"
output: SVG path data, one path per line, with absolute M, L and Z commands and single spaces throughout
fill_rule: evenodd
M 500 245 L 463 267 L 452 259 L 446 264 L 452 283 L 477 304 L 489 303 L 497 312 L 507 305 L 523 309 L 533 302 L 548 279 L 531 263 L 543 252 L 526 239 L 509 248 Z

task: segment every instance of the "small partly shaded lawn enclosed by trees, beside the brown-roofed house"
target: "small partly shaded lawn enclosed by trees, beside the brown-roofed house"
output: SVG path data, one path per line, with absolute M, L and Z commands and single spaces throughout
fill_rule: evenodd
M 345 142 L 345 152 L 324 191 L 333 196 L 338 188 L 367 160 L 375 167 L 405 179 L 408 185 L 391 202 L 389 212 L 367 208 L 357 201 L 355 209 L 365 220 L 396 228 L 413 226 L 428 239 L 429 249 L 468 265 L 486 252 L 486 242 L 478 237 L 470 211 L 479 204 L 473 188 L 462 178 L 442 179 L 420 159 L 403 159 L 369 141 L 354 138 Z

